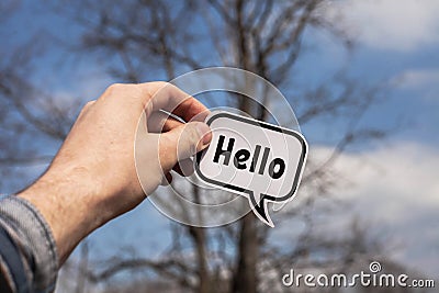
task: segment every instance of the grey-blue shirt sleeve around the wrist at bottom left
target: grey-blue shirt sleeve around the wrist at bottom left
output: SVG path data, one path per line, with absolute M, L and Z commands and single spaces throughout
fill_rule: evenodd
M 14 195 L 0 200 L 0 273 L 12 292 L 55 290 L 58 256 L 50 228 L 35 206 Z

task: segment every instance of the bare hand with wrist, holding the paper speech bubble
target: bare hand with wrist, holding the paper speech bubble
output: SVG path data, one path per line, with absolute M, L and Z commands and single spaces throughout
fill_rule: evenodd
M 160 110 L 199 122 L 184 124 Z M 207 112 L 166 82 L 113 84 L 82 109 L 47 171 L 19 194 L 48 222 L 61 263 L 83 237 L 134 209 L 171 180 L 178 161 L 188 165 L 209 145 L 201 122 Z

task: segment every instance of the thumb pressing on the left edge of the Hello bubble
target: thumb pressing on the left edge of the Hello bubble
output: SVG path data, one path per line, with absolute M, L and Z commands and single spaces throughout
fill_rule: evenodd
M 211 128 L 202 122 L 189 122 L 162 133 L 158 153 L 164 172 L 170 171 L 178 161 L 206 148 L 211 139 Z

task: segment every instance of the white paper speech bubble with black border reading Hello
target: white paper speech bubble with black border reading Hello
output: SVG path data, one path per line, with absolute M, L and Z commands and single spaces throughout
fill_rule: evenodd
M 210 185 L 248 198 L 254 213 L 273 222 L 267 203 L 292 200 L 307 156 L 301 133 L 228 112 L 206 119 L 211 145 L 196 155 L 195 173 Z

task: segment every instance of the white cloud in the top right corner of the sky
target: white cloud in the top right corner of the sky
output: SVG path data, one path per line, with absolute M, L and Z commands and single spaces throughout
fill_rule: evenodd
M 345 21 L 350 34 L 365 45 L 391 50 L 413 50 L 439 43 L 437 0 L 334 1 L 329 18 Z

